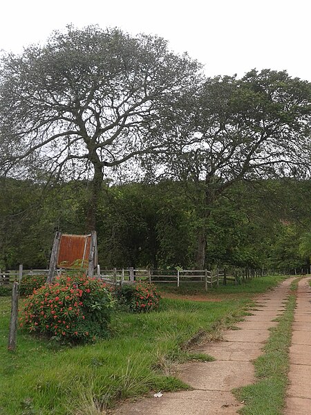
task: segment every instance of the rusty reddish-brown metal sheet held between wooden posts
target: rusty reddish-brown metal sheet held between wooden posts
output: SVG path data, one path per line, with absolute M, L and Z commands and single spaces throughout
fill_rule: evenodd
M 91 235 L 62 234 L 57 266 L 60 268 L 88 268 Z

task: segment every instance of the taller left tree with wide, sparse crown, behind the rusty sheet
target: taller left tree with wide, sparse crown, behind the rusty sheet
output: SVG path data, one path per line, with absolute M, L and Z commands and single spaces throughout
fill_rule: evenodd
M 161 114 L 196 82 L 198 67 L 160 37 L 96 26 L 4 55 L 1 174 L 91 177 L 86 229 L 94 229 L 104 169 L 163 149 Z

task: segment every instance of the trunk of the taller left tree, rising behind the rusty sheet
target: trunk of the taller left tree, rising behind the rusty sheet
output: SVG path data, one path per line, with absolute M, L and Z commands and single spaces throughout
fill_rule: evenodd
M 86 214 L 86 232 L 90 233 L 92 230 L 96 230 L 96 214 L 98 208 L 98 198 L 102 191 L 102 181 L 104 174 L 102 173 L 102 167 L 94 165 L 94 176 L 91 182 L 91 195 L 88 199 L 88 208 Z

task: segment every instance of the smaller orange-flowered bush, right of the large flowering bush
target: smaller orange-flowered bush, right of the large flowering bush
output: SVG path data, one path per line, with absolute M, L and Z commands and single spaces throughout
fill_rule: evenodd
M 116 295 L 120 304 L 128 306 L 130 311 L 146 313 L 158 308 L 160 304 L 160 294 L 157 293 L 156 286 L 147 282 L 124 284 L 117 289 Z

